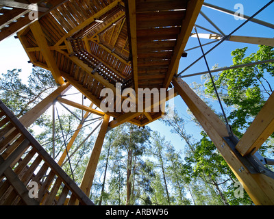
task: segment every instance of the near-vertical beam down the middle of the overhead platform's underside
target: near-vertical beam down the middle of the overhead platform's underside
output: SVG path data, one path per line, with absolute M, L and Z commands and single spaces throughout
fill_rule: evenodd
M 132 52 L 132 73 L 134 76 L 134 88 L 138 90 L 138 55 L 137 55 L 137 28 L 136 28 L 136 1 L 127 1 L 128 19 Z

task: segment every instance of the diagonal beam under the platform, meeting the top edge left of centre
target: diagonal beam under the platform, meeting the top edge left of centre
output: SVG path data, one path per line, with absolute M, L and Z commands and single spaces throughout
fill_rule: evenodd
M 99 18 L 100 16 L 102 16 L 103 14 L 108 12 L 109 10 L 112 10 L 112 8 L 114 8 L 116 5 L 118 5 L 121 1 L 122 0 L 115 0 L 112 3 L 110 3 L 109 5 L 105 6 L 102 10 L 100 10 L 96 14 L 93 14 L 93 16 L 90 16 L 90 18 L 86 19 L 86 21 L 79 24 L 77 27 L 75 27 L 74 29 L 69 31 L 67 34 L 65 34 L 60 40 L 58 40 L 58 42 L 56 42 L 55 46 L 59 46 L 60 44 L 62 44 L 62 42 L 64 42 L 64 40 L 66 40 L 66 38 L 73 36 L 78 31 L 80 31 L 81 29 L 83 29 L 84 27 L 89 25 L 90 23 L 94 22 L 95 18 Z

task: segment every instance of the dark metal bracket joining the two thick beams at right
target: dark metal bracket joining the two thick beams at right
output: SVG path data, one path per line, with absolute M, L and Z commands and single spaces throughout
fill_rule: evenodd
M 236 145 L 239 141 L 236 136 L 224 137 L 223 139 L 225 140 L 225 142 L 227 142 L 236 157 L 240 159 L 240 162 L 242 162 L 242 164 L 247 168 L 247 170 L 249 170 L 251 174 L 262 173 L 274 179 L 274 172 L 264 166 L 265 164 L 268 164 L 269 159 L 265 159 L 264 157 L 262 157 L 262 155 L 260 155 L 258 151 L 256 151 L 256 153 L 254 153 L 253 155 L 249 154 L 245 157 L 242 157 L 242 155 L 236 150 Z M 269 163 L 271 163 L 271 161 Z M 239 171 L 241 172 L 242 170 L 243 167 L 239 167 Z

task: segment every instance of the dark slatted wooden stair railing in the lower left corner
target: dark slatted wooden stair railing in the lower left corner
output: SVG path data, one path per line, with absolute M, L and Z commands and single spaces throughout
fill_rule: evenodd
M 0 110 L 0 205 L 94 205 L 2 101 Z

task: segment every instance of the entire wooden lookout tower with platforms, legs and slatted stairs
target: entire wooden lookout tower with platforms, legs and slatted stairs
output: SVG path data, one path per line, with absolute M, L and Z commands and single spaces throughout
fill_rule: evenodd
M 165 102 L 179 95 L 253 202 L 273 205 L 273 172 L 264 166 L 268 160 L 259 157 L 256 151 L 274 131 L 274 94 L 238 140 L 229 126 L 177 77 L 179 61 L 186 54 L 188 39 L 195 36 L 192 30 L 203 4 L 229 13 L 203 0 L 0 1 L 0 40 L 17 34 L 30 62 L 50 70 L 59 85 L 19 119 L 0 103 L 0 204 L 92 205 L 88 196 L 108 129 L 125 122 L 140 127 L 152 123 L 162 118 Z M 272 24 L 253 17 L 246 19 L 273 28 Z M 224 36 L 221 33 L 206 37 L 223 40 Z M 273 38 L 230 35 L 226 40 L 274 45 Z M 121 90 L 155 88 L 159 92 L 164 89 L 166 95 L 164 99 L 151 101 L 150 106 L 155 107 L 151 112 L 123 112 L 118 107 L 127 101 L 127 96 L 117 93 L 116 83 Z M 62 98 L 71 86 L 92 102 L 90 107 Z M 95 110 L 101 106 L 100 94 L 105 88 L 114 93 L 113 112 Z M 66 151 L 56 163 L 27 131 L 53 101 L 85 110 L 86 116 L 92 113 L 103 117 L 79 187 L 60 168 Z M 77 132 L 73 138 L 76 137 Z M 30 160 L 33 162 L 29 166 Z M 27 186 L 31 182 L 38 182 L 38 197 L 28 195 Z M 56 196 L 59 190 L 62 192 Z

